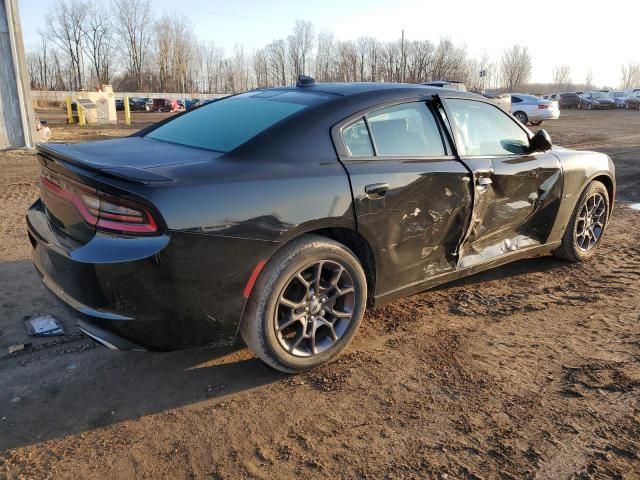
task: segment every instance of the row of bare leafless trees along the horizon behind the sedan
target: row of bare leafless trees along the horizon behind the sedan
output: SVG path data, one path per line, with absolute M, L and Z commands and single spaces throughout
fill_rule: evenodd
M 56 0 L 39 35 L 27 61 L 31 87 L 43 90 L 113 84 L 119 91 L 236 93 L 307 74 L 320 82 L 453 79 L 471 90 L 514 91 L 528 84 L 532 68 L 521 45 L 492 61 L 486 54 L 472 58 L 447 38 L 339 40 L 308 21 L 296 21 L 289 35 L 262 48 L 248 52 L 238 43 L 226 53 L 196 38 L 184 14 L 155 15 L 150 0 Z M 570 83 L 568 67 L 557 68 L 554 81 Z

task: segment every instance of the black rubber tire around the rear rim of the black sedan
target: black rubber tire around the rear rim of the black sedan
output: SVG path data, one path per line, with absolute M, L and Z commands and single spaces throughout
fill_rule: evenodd
M 322 264 L 321 262 L 325 263 Z M 318 323 L 315 323 L 314 320 L 314 324 L 310 325 L 308 319 L 320 319 L 320 316 L 314 316 L 316 314 L 321 315 L 323 321 L 325 318 L 329 318 L 331 316 L 329 312 L 334 312 L 338 309 L 336 305 L 339 300 L 334 299 L 331 307 L 326 307 L 330 302 L 325 303 L 325 308 L 330 309 L 327 310 L 326 313 L 323 309 L 320 312 L 316 311 L 315 314 L 312 314 L 313 310 L 318 307 L 318 302 L 316 301 L 313 304 L 312 311 L 310 312 L 308 305 L 309 302 L 312 301 L 308 299 L 308 295 L 311 295 L 308 292 L 312 291 L 315 287 L 309 285 L 303 286 L 302 283 L 294 284 L 295 282 L 300 282 L 298 280 L 298 272 L 303 270 L 301 275 L 304 276 L 309 273 L 309 271 L 304 270 L 305 268 L 315 269 L 315 265 L 318 264 L 321 265 L 319 268 L 320 276 L 322 276 L 323 273 L 325 275 L 328 273 L 329 276 L 338 276 L 336 287 L 338 286 L 338 282 L 341 281 L 341 278 L 344 277 L 344 273 L 348 274 L 350 284 L 353 286 L 353 296 L 349 298 L 349 306 L 345 307 L 347 302 L 345 299 L 346 295 L 344 297 L 336 297 L 338 299 L 343 298 L 343 305 L 340 308 L 341 310 L 350 311 L 351 317 L 346 321 L 346 325 L 339 324 L 339 321 L 346 319 L 335 317 L 333 319 L 335 323 L 330 331 L 328 327 L 324 325 L 314 328 Z M 328 265 L 328 267 L 326 265 Z M 335 273 L 335 270 L 331 271 L 330 268 L 334 268 L 336 265 L 342 267 L 344 271 L 338 270 L 339 274 Z M 327 269 L 329 269 L 328 272 Z M 325 285 L 327 285 L 326 280 L 324 281 Z M 328 284 L 331 285 L 332 282 Z M 315 285 L 315 283 L 311 285 Z M 292 298 L 293 294 L 291 294 L 288 289 L 294 287 L 296 287 L 299 291 L 298 293 L 302 295 L 302 306 L 296 307 L 296 309 L 291 308 L 287 312 L 286 309 L 290 307 L 283 304 L 282 299 L 285 297 L 285 294 L 289 298 Z M 349 290 L 349 288 L 344 288 L 344 286 L 340 288 L 343 291 Z M 348 295 L 351 295 L 351 293 Z M 327 299 L 325 298 L 322 301 L 325 300 Z M 366 304 L 367 280 L 360 262 L 351 250 L 341 243 L 325 237 L 304 235 L 279 250 L 260 273 L 247 303 L 247 308 L 240 326 L 240 334 L 249 349 L 267 365 L 283 372 L 302 372 L 335 359 L 345 349 L 362 321 Z M 304 305 L 307 306 L 305 307 Z M 308 313 L 302 311 L 302 313 L 296 314 L 297 308 L 301 310 L 306 309 Z M 286 313 L 288 313 L 289 316 L 285 315 Z M 339 313 L 346 314 L 342 311 Z M 283 328 L 287 320 L 291 319 L 294 315 L 302 315 L 304 318 L 301 321 L 294 322 L 290 327 Z M 299 326 L 298 323 L 300 324 Z M 316 332 L 319 332 L 322 328 L 327 330 L 322 340 L 325 344 L 328 340 L 330 346 L 327 347 L 325 345 L 323 347 L 325 348 L 324 350 L 314 353 L 317 346 Z M 335 337 L 336 331 L 340 328 L 342 328 L 341 335 Z M 283 332 L 287 333 L 287 335 L 291 333 L 287 332 L 287 329 L 296 329 L 293 337 L 285 338 Z M 299 338 L 298 333 L 304 336 L 310 332 L 311 329 L 313 329 L 313 347 L 309 347 L 311 353 L 308 356 L 301 356 L 300 353 L 296 353 L 296 350 L 298 350 L 296 346 L 298 344 L 295 342 L 295 339 Z M 329 335 L 330 332 L 332 332 L 333 335 Z M 289 340 L 296 344 L 292 346 L 291 349 L 286 348 Z M 311 339 L 306 339 L 305 337 L 305 340 L 311 343 Z

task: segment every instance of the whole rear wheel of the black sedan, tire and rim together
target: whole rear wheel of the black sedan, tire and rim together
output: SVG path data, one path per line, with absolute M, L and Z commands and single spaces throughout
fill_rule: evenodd
M 240 327 L 267 365 L 301 372 L 333 360 L 364 315 L 367 281 L 341 243 L 305 235 L 284 246 L 255 283 Z

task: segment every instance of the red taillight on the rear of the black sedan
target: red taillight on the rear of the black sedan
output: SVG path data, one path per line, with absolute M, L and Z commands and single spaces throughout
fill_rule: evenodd
M 145 234 L 158 231 L 153 215 L 142 205 L 108 195 L 68 179 L 44 174 L 43 193 L 71 203 L 85 222 L 111 232 Z

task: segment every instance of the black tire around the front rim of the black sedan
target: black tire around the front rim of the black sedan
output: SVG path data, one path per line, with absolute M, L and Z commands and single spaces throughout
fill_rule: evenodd
M 599 196 L 603 200 L 602 206 L 602 226 L 600 229 L 600 233 L 595 240 L 594 244 L 589 246 L 587 249 L 582 248 L 580 246 L 580 235 L 579 232 L 585 230 L 585 224 L 580 219 L 581 214 L 584 212 L 583 209 L 587 208 L 588 210 L 588 202 L 590 199 Z M 610 200 L 609 200 L 609 192 L 607 188 L 599 181 L 593 181 L 586 186 L 578 203 L 576 203 L 576 207 L 573 210 L 573 214 L 571 215 L 571 220 L 569 220 L 569 224 L 562 236 L 562 241 L 560 247 L 555 250 L 553 253 L 556 257 L 562 258 L 564 260 L 569 260 L 570 262 L 584 262 L 590 260 L 598 250 L 598 247 L 602 241 L 602 235 L 607 228 L 607 224 L 609 223 L 609 213 L 610 213 Z

